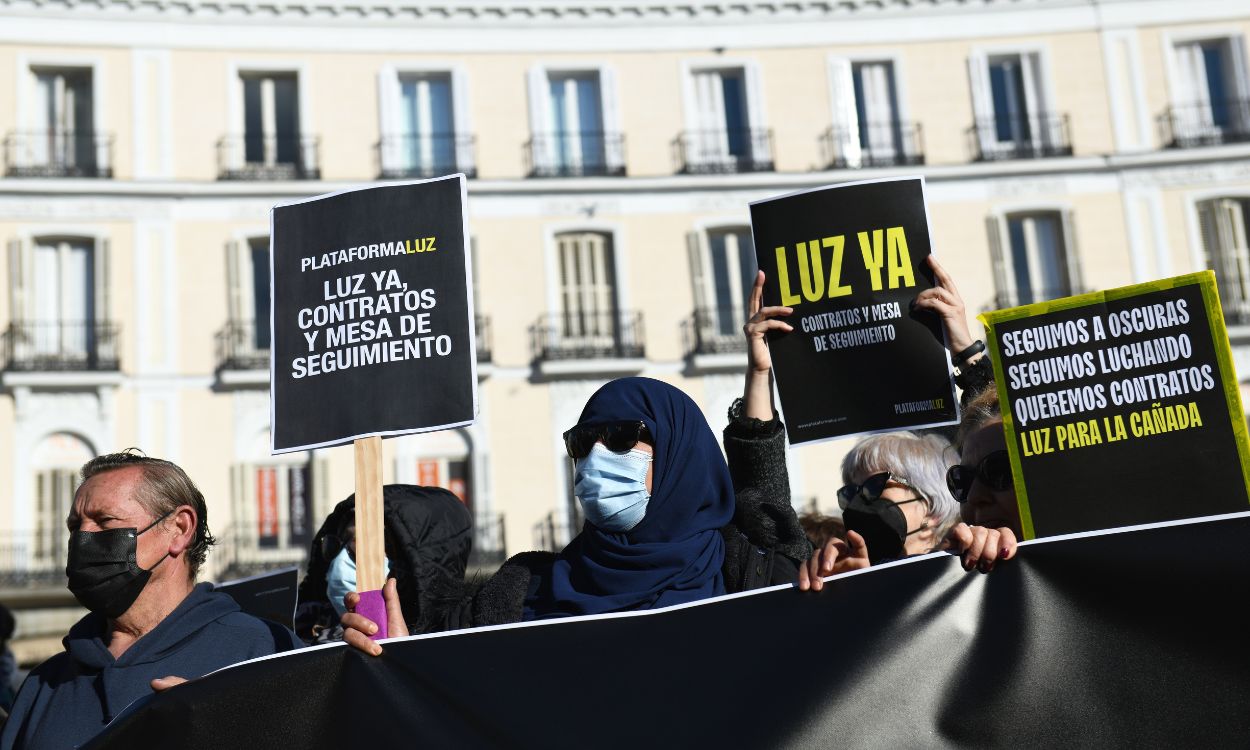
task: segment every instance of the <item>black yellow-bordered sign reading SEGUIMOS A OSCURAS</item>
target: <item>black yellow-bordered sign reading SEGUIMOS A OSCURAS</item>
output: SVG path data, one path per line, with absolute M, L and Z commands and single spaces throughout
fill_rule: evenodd
M 1250 509 L 1211 271 L 981 321 L 1026 539 Z

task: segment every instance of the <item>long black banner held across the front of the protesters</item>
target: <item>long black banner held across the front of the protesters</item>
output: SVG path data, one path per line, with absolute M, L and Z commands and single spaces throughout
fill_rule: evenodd
M 149 699 L 92 748 L 1231 748 L 1250 518 L 930 555 L 682 609 L 334 646 Z

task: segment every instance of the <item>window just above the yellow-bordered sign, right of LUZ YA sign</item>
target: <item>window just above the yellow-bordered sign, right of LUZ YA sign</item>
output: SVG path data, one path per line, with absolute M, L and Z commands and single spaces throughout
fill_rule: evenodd
M 1009 214 L 991 219 L 990 232 L 1000 308 L 1078 294 L 1078 259 L 1064 212 Z

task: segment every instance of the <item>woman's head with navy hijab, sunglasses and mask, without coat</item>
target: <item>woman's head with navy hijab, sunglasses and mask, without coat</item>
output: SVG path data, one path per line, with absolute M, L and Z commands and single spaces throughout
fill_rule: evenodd
M 725 592 L 734 486 L 720 445 L 676 388 L 624 378 L 565 434 L 586 524 L 525 600 L 525 619 L 598 615 Z

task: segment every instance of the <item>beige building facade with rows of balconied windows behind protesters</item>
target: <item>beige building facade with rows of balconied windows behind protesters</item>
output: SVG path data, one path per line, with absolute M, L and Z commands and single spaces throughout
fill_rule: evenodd
M 379 179 L 470 176 L 480 419 L 385 446 L 482 565 L 568 539 L 605 380 L 724 426 L 752 200 L 922 174 L 970 314 L 1214 268 L 1245 344 L 1248 38 L 1239 0 L 0 0 L 0 588 L 52 596 L 72 472 L 128 446 L 204 490 L 211 575 L 302 558 L 352 462 L 269 454 L 268 210 Z M 848 448 L 790 451 L 796 504 Z

